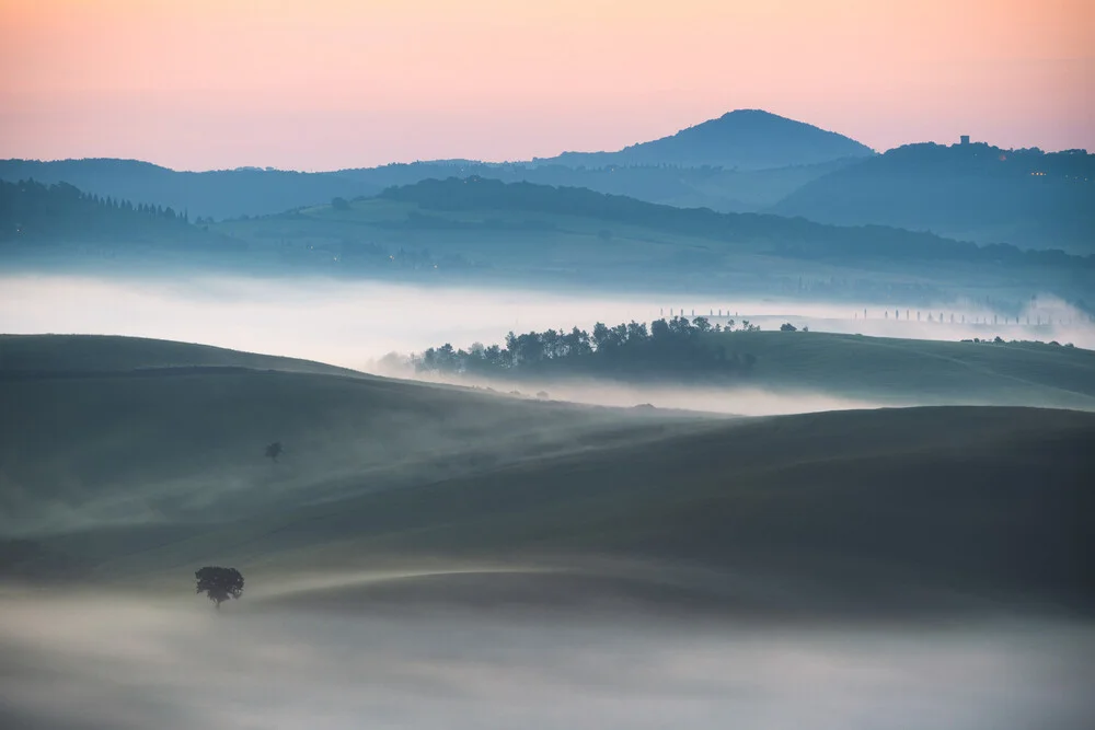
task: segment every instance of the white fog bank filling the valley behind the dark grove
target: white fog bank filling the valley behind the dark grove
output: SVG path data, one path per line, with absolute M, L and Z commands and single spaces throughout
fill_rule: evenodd
M 1031 323 L 992 322 L 993 313 L 970 309 L 968 324 L 883 318 L 873 304 L 752 300 L 725 302 L 681 293 L 599 296 L 589 291 L 416 287 L 319 278 L 93 278 L 64 275 L 0 276 L 0 332 L 12 334 L 108 334 L 158 337 L 270 355 L 321 360 L 355 369 L 388 352 L 411 352 L 443 343 L 500 343 L 509 331 L 591 328 L 595 322 L 649 322 L 670 312 L 725 321 L 752 318 L 765 329 L 784 321 L 821 332 L 892 337 L 960 339 L 1058 339 L 1095 347 L 1090 318 L 1050 298 L 1038 300 Z M 866 320 L 857 320 L 863 310 Z M 941 305 L 949 318 L 953 308 Z M 886 310 L 888 311 L 888 309 Z M 723 320 L 717 313 L 723 313 Z M 908 317 L 906 316 L 908 313 Z M 892 314 L 890 315 L 892 317 Z M 1046 324 L 1052 321 L 1053 324 Z M 1023 317 L 1025 322 L 1025 315 Z

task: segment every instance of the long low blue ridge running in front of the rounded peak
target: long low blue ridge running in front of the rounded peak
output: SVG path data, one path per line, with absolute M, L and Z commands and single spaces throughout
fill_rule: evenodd
M 588 187 L 650 202 L 744 212 L 775 205 L 803 184 L 850 162 L 835 160 L 776 170 L 730 171 L 657 165 L 575 169 L 544 162 L 495 164 L 443 160 L 326 173 L 255 169 L 188 173 L 135 160 L 7 160 L 0 161 L 0 179 L 68 182 L 101 196 L 147 200 L 189 211 L 192 218 L 217 220 L 268 216 L 322 205 L 336 197 L 353 199 L 374 195 L 392 185 L 453 175 Z

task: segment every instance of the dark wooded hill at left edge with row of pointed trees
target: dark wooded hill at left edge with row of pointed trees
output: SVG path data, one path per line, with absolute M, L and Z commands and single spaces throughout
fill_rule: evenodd
M 81 192 L 67 183 L 0 182 L 0 240 L 142 240 L 197 234 L 186 212 Z

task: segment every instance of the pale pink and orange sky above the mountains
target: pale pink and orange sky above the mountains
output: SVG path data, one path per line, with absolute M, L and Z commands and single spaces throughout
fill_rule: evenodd
M 1095 0 L 0 0 L 0 158 L 521 160 L 735 108 L 1095 150 Z

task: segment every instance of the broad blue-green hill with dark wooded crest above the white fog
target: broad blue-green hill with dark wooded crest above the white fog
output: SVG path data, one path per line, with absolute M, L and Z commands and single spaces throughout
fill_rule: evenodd
M 1083 299 L 1093 257 L 977 246 L 883 227 L 658 206 L 588 189 L 481 177 L 423 181 L 379 196 L 215 229 L 283 265 L 358 276 L 428 276 L 643 290 L 930 302 L 991 292 L 1015 302 Z M 976 293 L 975 293 L 976 292 Z

